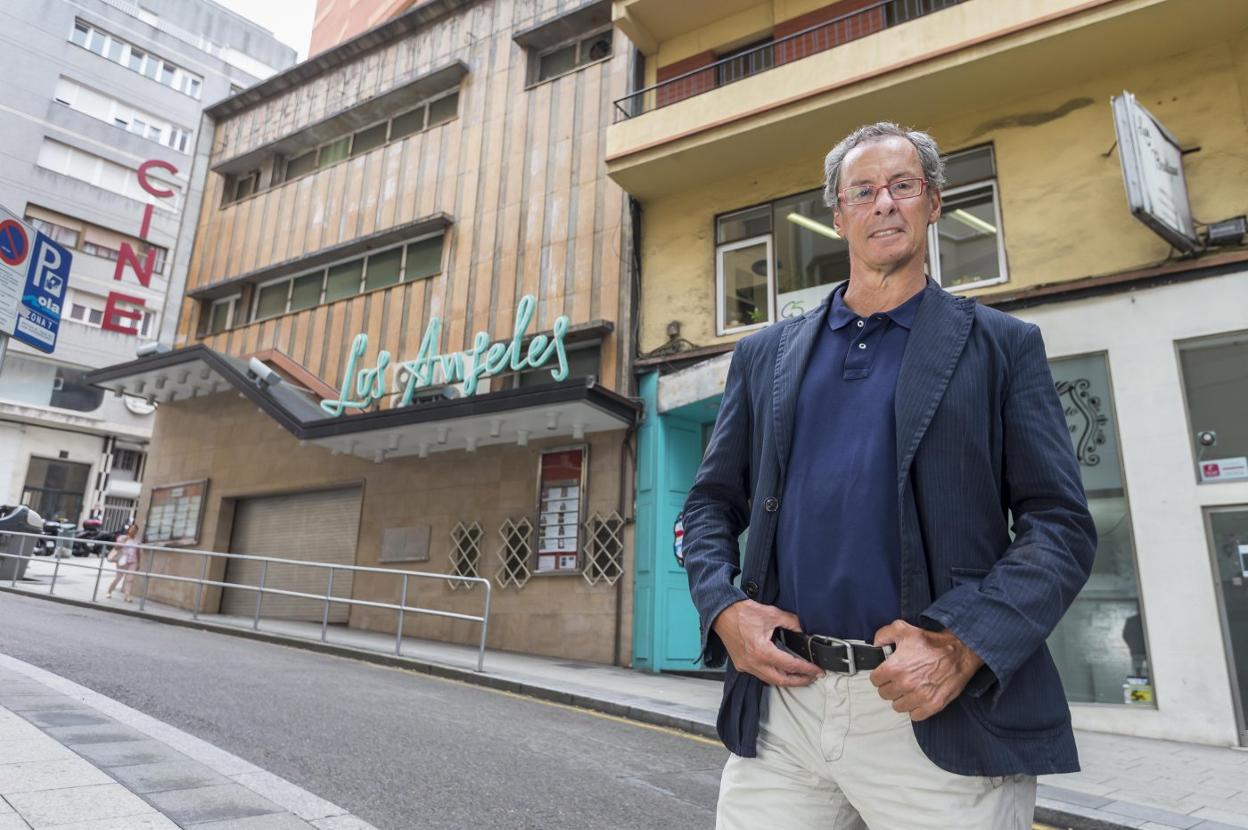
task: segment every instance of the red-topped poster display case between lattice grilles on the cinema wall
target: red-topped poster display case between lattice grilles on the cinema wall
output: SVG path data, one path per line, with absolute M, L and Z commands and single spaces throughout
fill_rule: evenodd
M 584 447 L 542 453 L 538 486 L 538 557 L 534 573 L 575 572 L 580 564 Z

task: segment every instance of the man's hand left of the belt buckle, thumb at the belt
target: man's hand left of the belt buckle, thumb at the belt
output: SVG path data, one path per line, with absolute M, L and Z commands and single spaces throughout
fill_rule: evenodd
M 805 686 L 819 679 L 822 670 L 784 652 L 771 642 L 778 628 L 800 632 L 797 615 L 753 599 L 733 603 L 719 613 L 711 627 L 724 640 L 738 671 L 753 674 L 774 686 Z

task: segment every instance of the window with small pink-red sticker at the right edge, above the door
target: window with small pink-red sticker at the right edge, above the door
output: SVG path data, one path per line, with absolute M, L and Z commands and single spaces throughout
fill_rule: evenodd
M 1202 484 L 1248 481 L 1248 331 L 1178 344 Z

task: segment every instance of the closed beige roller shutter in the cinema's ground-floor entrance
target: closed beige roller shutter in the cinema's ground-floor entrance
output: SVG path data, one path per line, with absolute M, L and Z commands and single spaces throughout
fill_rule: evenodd
M 356 564 L 356 532 L 359 525 L 359 489 L 322 491 L 265 498 L 240 499 L 235 508 L 231 553 L 255 557 L 280 557 L 331 564 Z M 226 582 L 258 585 L 263 563 L 231 559 Z M 298 590 L 323 597 L 327 568 L 270 564 L 266 588 Z M 351 597 L 351 573 L 337 570 L 333 595 Z M 349 607 L 329 605 L 329 622 L 346 623 Z M 256 592 L 226 588 L 221 613 L 251 617 L 256 613 Z M 265 594 L 262 617 L 321 622 L 324 600 Z

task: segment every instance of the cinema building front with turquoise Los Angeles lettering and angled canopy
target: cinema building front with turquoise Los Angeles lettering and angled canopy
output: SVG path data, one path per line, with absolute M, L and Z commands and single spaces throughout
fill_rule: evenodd
M 419 4 L 208 107 L 177 342 L 90 379 L 158 404 L 146 540 L 485 578 L 488 647 L 626 665 L 640 403 L 628 201 L 599 145 L 629 50 L 609 4 L 494 5 Z M 251 615 L 257 569 L 213 563 L 226 587 L 200 610 Z M 331 590 L 324 569 L 265 579 Z M 332 593 L 394 603 L 401 583 L 342 572 Z M 482 610 L 480 585 L 409 590 Z M 396 615 L 333 603 L 329 623 L 394 632 Z M 479 637 L 416 614 L 403 630 Z

